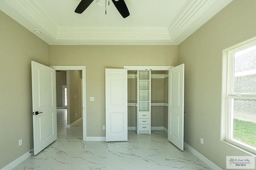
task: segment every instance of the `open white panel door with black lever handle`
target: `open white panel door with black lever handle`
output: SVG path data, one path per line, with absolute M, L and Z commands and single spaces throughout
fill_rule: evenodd
M 48 66 L 31 62 L 34 154 L 57 139 L 56 75 Z

